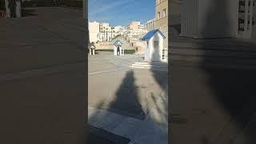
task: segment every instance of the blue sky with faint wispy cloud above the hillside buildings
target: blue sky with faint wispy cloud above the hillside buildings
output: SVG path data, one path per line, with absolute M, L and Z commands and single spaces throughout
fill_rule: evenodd
M 155 0 L 88 0 L 89 21 L 108 22 L 110 26 L 127 26 L 154 18 Z

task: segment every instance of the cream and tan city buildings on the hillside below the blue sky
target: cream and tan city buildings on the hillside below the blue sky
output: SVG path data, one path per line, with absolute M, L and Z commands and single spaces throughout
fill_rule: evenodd
M 104 22 L 89 22 L 90 43 L 100 42 L 97 46 L 99 49 L 110 49 L 111 40 L 117 36 L 122 36 L 129 46 L 127 49 L 134 49 L 136 53 L 145 52 L 146 43 L 141 38 L 152 30 L 160 30 L 164 34 L 163 49 L 161 51 L 162 58 L 168 55 L 168 1 L 156 0 L 155 2 L 155 18 L 150 19 L 142 24 L 138 21 L 130 22 L 127 26 L 110 26 Z

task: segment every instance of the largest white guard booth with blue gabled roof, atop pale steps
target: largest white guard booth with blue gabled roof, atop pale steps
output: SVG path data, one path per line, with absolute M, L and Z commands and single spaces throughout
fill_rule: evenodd
M 145 61 L 167 62 L 166 54 L 163 54 L 163 40 L 165 38 L 160 30 L 152 30 L 141 38 L 142 41 L 146 41 Z

